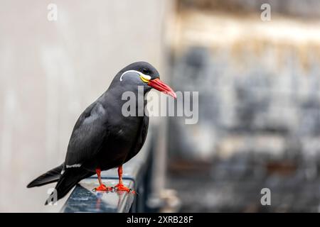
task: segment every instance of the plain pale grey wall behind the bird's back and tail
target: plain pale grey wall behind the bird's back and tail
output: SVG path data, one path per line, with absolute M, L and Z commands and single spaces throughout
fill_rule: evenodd
M 49 3 L 57 4 L 58 21 L 48 21 Z M 43 206 L 48 187 L 26 184 L 63 162 L 76 119 L 122 67 L 146 60 L 164 70 L 168 7 L 0 2 L 0 211 L 58 211 Z

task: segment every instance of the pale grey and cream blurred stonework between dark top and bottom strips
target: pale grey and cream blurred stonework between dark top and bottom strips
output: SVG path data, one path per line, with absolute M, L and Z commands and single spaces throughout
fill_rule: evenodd
M 173 84 L 199 92 L 200 112 L 196 125 L 171 121 L 173 153 L 319 160 L 319 18 L 188 9 L 174 24 Z

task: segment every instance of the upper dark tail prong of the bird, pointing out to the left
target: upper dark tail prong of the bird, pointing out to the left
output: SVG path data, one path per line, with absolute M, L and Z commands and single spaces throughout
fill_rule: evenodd
M 44 173 L 40 177 L 37 177 L 36 179 L 33 179 L 32 182 L 30 182 L 27 187 L 39 187 L 45 184 L 50 184 L 53 182 L 58 182 L 61 171 L 63 170 L 63 164 L 59 165 L 58 167 L 53 168 L 52 170 L 49 170 L 48 172 Z

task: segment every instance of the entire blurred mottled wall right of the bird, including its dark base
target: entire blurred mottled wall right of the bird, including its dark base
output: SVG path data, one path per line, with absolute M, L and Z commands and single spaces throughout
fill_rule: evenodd
M 169 124 L 181 211 L 319 212 L 319 1 L 177 5 L 172 84 L 199 92 L 198 123 Z M 263 188 L 271 206 L 260 203 Z

